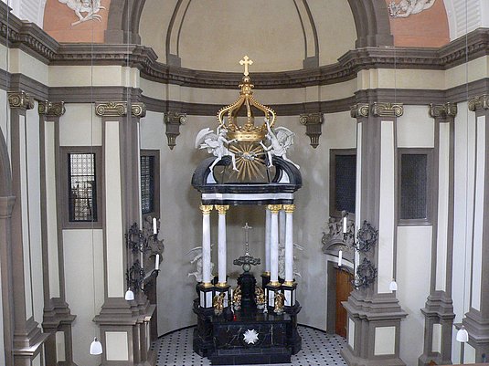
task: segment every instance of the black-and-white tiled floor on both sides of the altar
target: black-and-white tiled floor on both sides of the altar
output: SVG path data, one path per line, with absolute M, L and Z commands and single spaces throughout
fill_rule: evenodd
M 194 328 L 177 330 L 156 340 L 152 347 L 157 350 L 158 366 L 206 366 L 210 361 L 202 358 L 192 350 Z M 337 335 L 325 334 L 322 331 L 299 326 L 303 338 L 303 349 L 292 356 L 295 366 L 346 366 L 340 355 L 346 341 Z

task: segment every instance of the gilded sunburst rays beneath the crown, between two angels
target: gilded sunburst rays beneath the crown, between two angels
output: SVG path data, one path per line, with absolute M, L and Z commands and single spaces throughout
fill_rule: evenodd
M 229 151 L 236 155 L 236 167 L 239 170 L 233 171 L 231 175 L 236 174 L 239 181 L 251 181 L 258 176 L 265 178 L 260 170 L 260 167 L 265 165 L 265 152 L 258 143 L 233 144 L 229 146 Z

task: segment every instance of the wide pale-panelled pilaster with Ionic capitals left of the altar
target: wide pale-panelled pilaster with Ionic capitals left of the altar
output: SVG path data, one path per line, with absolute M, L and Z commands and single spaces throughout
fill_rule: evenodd
M 154 315 L 143 291 L 137 289 L 132 301 L 124 299 L 127 288 L 125 273 L 129 267 L 144 263 L 143 255 L 122 246 L 124 235 L 133 223 L 141 226 L 140 177 L 140 118 L 145 106 L 140 102 L 96 102 L 95 113 L 103 125 L 104 210 L 103 242 L 105 299 L 94 321 L 101 329 L 104 351 L 101 365 L 139 365 L 152 359 L 147 352 L 151 341 L 149 323 Z M 109 219 L 110 218 L 110 219 Z M 144 268 L 139 276 L 142 276 Z M 122 341 L 121 343 L 121 340 Z M 117 340 L 117 341 L 116 341 Z M 108 360 L 107 347 L 118 345 L 124 360 Z M 113 350 L 112 350 L 113 351 Z M 127 357 L 125 357 L 127 354 Z

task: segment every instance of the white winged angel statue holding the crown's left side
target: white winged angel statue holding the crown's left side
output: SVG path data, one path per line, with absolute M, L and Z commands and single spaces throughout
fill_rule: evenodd
M 226 139 L 226 134 L 228 130 L 223 127 L 218 127 L 216 130 L 217 134 L 214 131 L 210 130 L 208 127 L 206 129 L 200 130 L 197 133 L 196 138 L 196 149 L 207 149 L 207 152 L 212 153 L 216 156 L 216 159 L 210 165 L 210 172 L 213 172 L 216 164 L 222 159 L 223 156 L 230 156 L 231 162 L 233 166 L 233 170 L 239 172 L 236 167 L 236 156 L 233 152 L 229 152 L 228 146 L 229 143 L 236 141 L 236 139 L 228 141 Z

